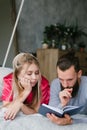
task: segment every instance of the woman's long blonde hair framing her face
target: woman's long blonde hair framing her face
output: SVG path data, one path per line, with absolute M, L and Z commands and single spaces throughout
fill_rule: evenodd
M 22 70 L 22 67 L 25 63 L 28 63 L 28 65 L 31 65 L 34 63 L 36 66 L 38 66 L 39 71 L 40 71 L 40 66 L 37 58 L 33 56 L 30 53 L 19 53 L 13 60 L 13 92 L 14 96 L 16 97 L 18 94 L 21 94 L 23 91 L 23 87 L 19 84 L 19 79 L 18 79 L 18 74 Z M 40 72 L 39 72 L 40 73 Z M 33 87 L 32 92 L 33 92 L 33 99 L 30 105 L 33 107 L 38 103 L 40 100 L 40 81 L 41 81 L 41 73 L 40 73 L 40 79 L 38 83 L 36 84 L 36 87 Z

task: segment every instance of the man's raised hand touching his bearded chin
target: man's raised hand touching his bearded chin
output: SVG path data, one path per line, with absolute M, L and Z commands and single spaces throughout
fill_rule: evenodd
M 66 106 L 68 104 L 68 102 L 70 101 L 72 95 L 72 88 L 68 88 L 68 89 L 64 89 L 62 91 L 60 91 L 59 93 L 59 98 L 60 98 L 60 102 L 62 107 Z

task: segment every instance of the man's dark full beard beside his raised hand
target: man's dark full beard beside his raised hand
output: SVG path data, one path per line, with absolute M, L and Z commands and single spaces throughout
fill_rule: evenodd
M 72 95 L 72 98 L 75 97 L 78 93 L 78 90 L 79 90 L 79 83 L 78 83 L 78 80 L 76 81 L 76 83 L 73 85 L 73 86 L 67 86 L 67 88 L 73 88 L 73 91 L 71 93 Z M 61 91 L 64 90 L 64 89 L 67 89 L 67 88 L 64 88 L 61 84 Z

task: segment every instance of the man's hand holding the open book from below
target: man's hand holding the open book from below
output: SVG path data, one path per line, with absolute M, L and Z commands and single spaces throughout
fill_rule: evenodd
M 72 124 L 72 119 L 69 115 L 65 114 L 64 117 L 59 118 L 55 116 L 54 114 L 47 113 L 47 117 L 54 123 L 58 125 L 69 125 Z

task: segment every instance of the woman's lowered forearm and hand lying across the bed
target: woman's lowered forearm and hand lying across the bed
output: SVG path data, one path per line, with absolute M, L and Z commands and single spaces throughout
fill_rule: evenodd
M 23 104 L 20 102 L 19 99 L 14 100 L 11 102 L 9 105 L 7 105 L 7 111 L 5 112 L 4 118 L 6 120 L 13 120 L 17 113 L 21 110 L 24 114 L 29 115 L 29 114 L 34 114 L 37 113 L 39 104 L 33 108 L 30 108 L 29 106 Z

